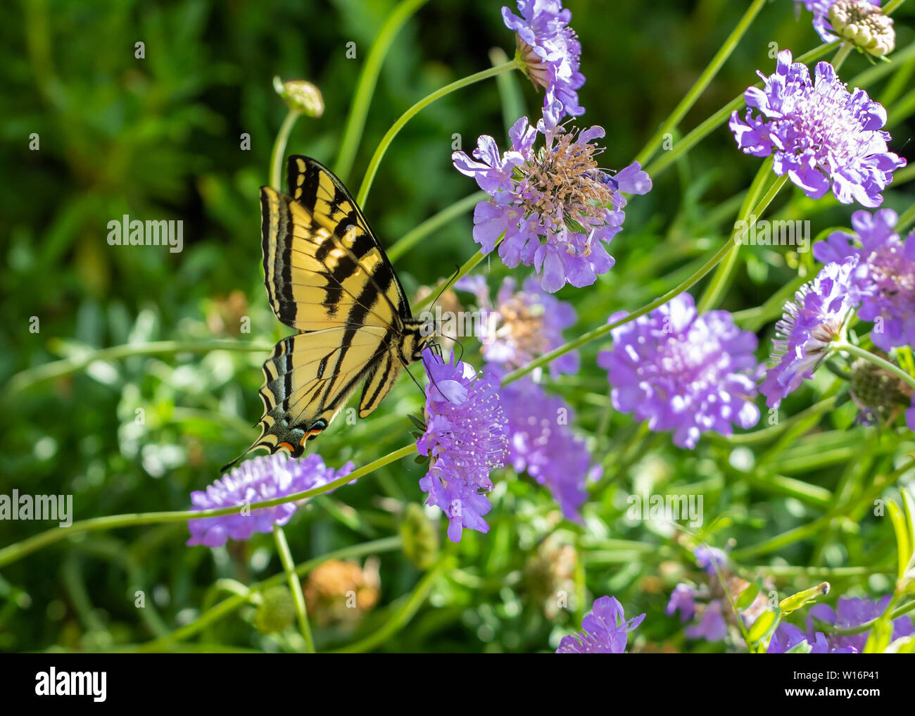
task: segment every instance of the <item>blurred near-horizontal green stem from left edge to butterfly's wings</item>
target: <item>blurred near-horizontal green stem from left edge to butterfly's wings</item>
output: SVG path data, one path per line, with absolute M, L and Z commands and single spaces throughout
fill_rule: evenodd
M 71 355 L 59 361 L 52 361 L 35 368 L 28 368 L 10 378 L 5 392 L 12 395 L 25 390 L 40 381 L 59 378 L 81 371 L 95 361 L 116 361 L 134 355 L 165 355 L 175 353 L 209 353 L 210 351 L 237 351 L 241 353 L 264 353 L 274 347 L 273 343 L 241 341 L 153 341 L 148 343 L 125 343 L 110 348 L 97 348 L 85 353 Z

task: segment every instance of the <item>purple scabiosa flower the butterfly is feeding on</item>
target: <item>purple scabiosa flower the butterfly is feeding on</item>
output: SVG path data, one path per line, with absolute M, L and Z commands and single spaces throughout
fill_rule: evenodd
M 445 363 L 431 348 L 423 352 L 423 364 L 429 376 L 426 427 L 416 450 L 431 461 L 419 486 L 428 494 L 425 504 L 447 515 L 448 538 L 458 542 L 465 527 L 490 529 L 483 519 L 492 506 L 486 493 L 492 488 L 490 472 L 505 462 L 507 421 L 492 375 L 478 375 L 456 356 Z

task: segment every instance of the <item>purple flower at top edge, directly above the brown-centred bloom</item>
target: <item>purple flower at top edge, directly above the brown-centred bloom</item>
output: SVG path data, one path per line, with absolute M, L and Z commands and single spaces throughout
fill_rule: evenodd
M 585 75 L 578 71 L 581 43 L 569 21 L 572 12 L 560 0 L 518 0 L 521 17 L 502 7 L 505 27 L 514 30 L 516 56 L 535 86 L 552 91 L 565 114 L 584 114 L 578 90 Z

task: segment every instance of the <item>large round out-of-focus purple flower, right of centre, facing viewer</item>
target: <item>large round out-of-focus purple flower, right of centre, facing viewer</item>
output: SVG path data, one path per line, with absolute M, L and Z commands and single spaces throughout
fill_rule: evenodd
M 613 348 L 597 353 L 597 364 L 608 371 L 613 407 L 652 430 L 673 430 L 681 448 L 692 450 L 706 430 L 730 435 L 732 424 L 752 428 L 759 420 L 756 336 L 727 311 L 700 316 L 682 293 L 610 335 Z

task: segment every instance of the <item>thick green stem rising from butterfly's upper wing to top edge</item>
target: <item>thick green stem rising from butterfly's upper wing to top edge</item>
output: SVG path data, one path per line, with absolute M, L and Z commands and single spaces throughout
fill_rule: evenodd
M 350 114 L 347 116 L 343 136 L 340 139 L 337 161 L 334 162 L 334 173 L 340 179 L 346 180 L 352 168 L 352 162 L 356 158 L 356 150 L 359 148 L 362 130 L 365 128 L 365 118 L 369 115 L 371 96 L 378 84 L 378 76 L 381 74 L 384 58 L 406 21 L 427 2 L 428 0 L 404 0 L 394 7 L 391 14 L 384 20 L 375 41 L 371 43 L 369 55 L 365 64 L 362 65 L 359 81 L 356 83 L 356 93 L 353 95 Z

